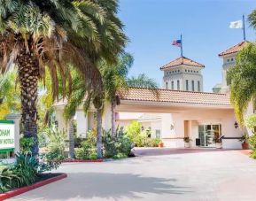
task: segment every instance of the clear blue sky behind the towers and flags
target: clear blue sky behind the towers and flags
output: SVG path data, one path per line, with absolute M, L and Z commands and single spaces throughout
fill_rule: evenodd
M 183 37 L 183 55 L 206 68 L 204 90 L 212 91 L 221 82 L 218 53 L 243 40 L 241 29 L 229 22 L 242 19 L 256 9 L 252 0 L 120 0 L 120 19 L 130 39 L 127 50 L 135 63 L 130 75 L 146 73 L 162 85 L 159 67 L 180 56 L 172 46 Z M 255 31 L 245 22 L 246 39 L 255 40 Z

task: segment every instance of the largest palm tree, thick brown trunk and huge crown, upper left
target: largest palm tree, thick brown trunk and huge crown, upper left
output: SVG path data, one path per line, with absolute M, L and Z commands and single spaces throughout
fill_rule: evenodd
M 2 73 L 12 64 L 18 67 L 22 124 L 24 135 L 34 138 L 34 156 L 38 155 L 39 79 L 44 79 L 48 68 L 52 97 L 56 99 L 58 77 L 66 86 L 66 81 L 71 80 L 69 66 L 73 64 L 87 88 L 101 89 L 97 60 L 112 61 L 126 43 L 115 4 L 115 0 L 13 0 L 0 4 L 0 67 Z

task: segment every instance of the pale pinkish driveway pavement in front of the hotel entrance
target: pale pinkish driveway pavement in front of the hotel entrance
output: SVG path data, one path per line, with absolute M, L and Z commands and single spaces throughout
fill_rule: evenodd
M 9 200 L 256 200 L 256 160 L 241 151 L 141 155 L 64 164 L 66 179 Z

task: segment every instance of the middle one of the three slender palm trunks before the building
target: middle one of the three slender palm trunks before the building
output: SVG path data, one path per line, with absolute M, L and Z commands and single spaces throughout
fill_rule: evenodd
M 102 158 L 102 110 L 97 109 L 97 158 Z

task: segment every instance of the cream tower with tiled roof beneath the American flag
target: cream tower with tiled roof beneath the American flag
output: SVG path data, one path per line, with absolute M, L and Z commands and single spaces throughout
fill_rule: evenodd
M 180 57 L 160 67 L 164 72 L 163 89 L 203 91 L 204 65 L 190 58 Z

